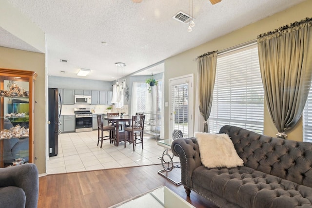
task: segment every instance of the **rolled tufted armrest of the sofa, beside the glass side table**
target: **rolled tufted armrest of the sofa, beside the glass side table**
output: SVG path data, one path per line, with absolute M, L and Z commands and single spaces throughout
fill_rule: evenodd
M 201 166 L 199 148 L 195 138 L 175 139 L 171 145 L 172 152 L 180 158 L 181 182 L 192 189 L 193 171 Z

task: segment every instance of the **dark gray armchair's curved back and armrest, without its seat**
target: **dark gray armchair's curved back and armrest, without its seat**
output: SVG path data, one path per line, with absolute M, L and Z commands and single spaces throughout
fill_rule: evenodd
M 38 169 L 29 163 L 0 169 L 0 187 L 15 186 L 24 190 L 26 208 L 37 208 L 39 194 Z

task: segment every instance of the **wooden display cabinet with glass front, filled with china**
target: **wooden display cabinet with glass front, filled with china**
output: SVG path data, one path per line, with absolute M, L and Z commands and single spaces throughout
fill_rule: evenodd
M 34 162 L 32 71 L 0 68 L 0 167 Z

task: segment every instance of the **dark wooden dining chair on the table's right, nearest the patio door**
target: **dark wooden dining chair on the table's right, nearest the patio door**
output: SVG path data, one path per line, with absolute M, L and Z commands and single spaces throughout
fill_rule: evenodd
M 144 120 L 145 115 L 133 115 L 131 126 L 125 128 L 125 148 L 127 141 L 133 145 L 133 151 L 137 144 L 142 144 L 143 149 L 143 132 L 144 132 Z M 137 133 L 140 134 L 140 138 L 137 138 Z M 128 137 L 127 137 L 128 135 Z M 137 142 L 139 140 L 139 142 Z

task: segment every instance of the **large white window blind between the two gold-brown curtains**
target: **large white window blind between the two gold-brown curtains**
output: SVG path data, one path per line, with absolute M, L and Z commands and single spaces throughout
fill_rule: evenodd
M 217 57 L 209 130 L 234 125 L 263 133 L 264 95 L 256 44 Z

